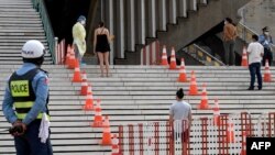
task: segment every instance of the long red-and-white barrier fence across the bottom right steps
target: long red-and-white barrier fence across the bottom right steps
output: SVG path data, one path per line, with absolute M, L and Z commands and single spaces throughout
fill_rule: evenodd
M 233 155 L 246 153 L 246 137 L 274 137 L 275 113 L 220 115 L 119 126 L 124 155 Z M 184 131 L 184 132 L 183 132 Z M 189 135 L 188 135 L 189 133 Z

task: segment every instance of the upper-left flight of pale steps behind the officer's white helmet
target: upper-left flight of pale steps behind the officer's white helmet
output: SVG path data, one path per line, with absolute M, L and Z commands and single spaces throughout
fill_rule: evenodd
M 53 64 L 38 13 L 31 0 L 0 0 L 0 65 L 22 64 L 21 48 L 28 40 L 41 41 Z

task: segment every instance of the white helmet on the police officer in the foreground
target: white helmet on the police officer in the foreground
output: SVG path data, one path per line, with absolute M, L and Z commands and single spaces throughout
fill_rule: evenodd
M 44 56 L 44 54 L 45 54 L 44 45 L 36 40 L 28 41 L 22 47 L 23 58 L 38 58 Z

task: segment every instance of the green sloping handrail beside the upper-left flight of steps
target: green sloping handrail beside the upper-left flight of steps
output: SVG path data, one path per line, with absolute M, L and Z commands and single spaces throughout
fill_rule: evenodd
M 47 10 L 45 7 L 45 2 L 44 0 L 32 0 L 32 2 L 33 2 L 33 8 L 36 9 L 37 12 L 40 12 L 43 27 L 46 33 L 46 40 L 48 43 L 50 53 L 52 55 L 54 64 L 56 64 L 56 57 L 55 57 L 56 42 L 55 42 L 55 36 L 54 36 L 53 29 L 52 29 L 52 24 L 47 14 Z

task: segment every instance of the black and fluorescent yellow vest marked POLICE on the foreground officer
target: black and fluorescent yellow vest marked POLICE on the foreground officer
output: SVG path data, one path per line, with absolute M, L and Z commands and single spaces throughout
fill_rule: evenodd
M 34 68 L 21 76 L 19 76 L 14 71 L 10 77 L 9 88 L 12 99 L 14 101 L 13 106 L 15 107 L 16 117 L 20 120 L 23 120 L 25 118 L 25 115 L 34 104 L 36 96 L 32 87 L 32 80 L 40 70 L 41 69 L 38 68 Z M 50 118 L 47 103 L 48 103 L 48 97 L 46 100 L 46 113 L 47 117 Z M 36 119 L 42 119 L 42 115 L 43 112 L 40 112 Z

